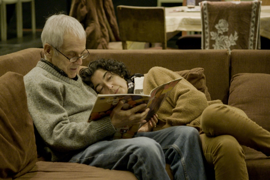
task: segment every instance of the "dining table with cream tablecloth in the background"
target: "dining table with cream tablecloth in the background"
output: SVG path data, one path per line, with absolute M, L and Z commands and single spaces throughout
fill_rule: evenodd
M 165 22 L 167 34 L 179 31 L 201 32 L 200 6 L 165 7 Z M 270 39 L 270 6 L 261 6 L 260 35 Z

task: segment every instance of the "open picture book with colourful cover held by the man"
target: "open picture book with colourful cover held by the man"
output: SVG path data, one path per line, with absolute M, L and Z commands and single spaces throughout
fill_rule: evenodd
M 161 104 L 167 98 L 169 93 L 173 90 L 174 86 L 183 78 L 175 79 L 154 88 L 150 95 L 138 95 L 138 94 L 98 94 L 95 105 L 91 111 L 88 122 L 101 119 L 105 116 L 110 116 L 112 110 L 116 107 L 119 101 L 124 101 L 122 110 L 129 110 L 139 104 L 147 104 L 146 108 L 149 108 L 149 112 L 146 116 L 146 121 L 149 121 L 154 114 L 156 114 L 161 107 Z M 146 108 L 141 109 L 138 113 L 143 112 Z M 137 126 L 125 126 L 118 128 L 119 133 L 115 134 L 114 139 L 131 138 L 139 130 L 140 125 Z

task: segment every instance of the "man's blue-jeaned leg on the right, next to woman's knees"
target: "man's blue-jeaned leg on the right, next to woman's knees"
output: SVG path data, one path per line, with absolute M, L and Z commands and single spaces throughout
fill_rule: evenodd
M 161 145 L 166 162 L 173 170 L 174 179 L 206 179 L 201 140 L 195 128 L 174 126 L 160 131 L 138 133 L 138 136 L 150 137 Z

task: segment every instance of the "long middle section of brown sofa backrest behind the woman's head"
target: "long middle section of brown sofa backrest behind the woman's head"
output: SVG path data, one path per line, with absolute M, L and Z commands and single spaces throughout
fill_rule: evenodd
M 228 102 L 229 53 L 222 50 L 98 50 L 89 49 L 83 66 L 98 58 L 123 61 L 131 73 L 147 73 L 151 67 L 161 66 L 173 71 L 204 68 L 206 86 L 211 100 Z

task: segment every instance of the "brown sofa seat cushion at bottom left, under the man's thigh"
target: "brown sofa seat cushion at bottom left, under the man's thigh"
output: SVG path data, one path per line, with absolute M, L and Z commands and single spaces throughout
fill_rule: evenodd
M 129 171 L 105 170 L 98 167 L 77 163 L 38 161 L 35 167 L 17 180 L 137 180 Z

